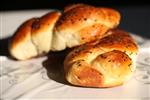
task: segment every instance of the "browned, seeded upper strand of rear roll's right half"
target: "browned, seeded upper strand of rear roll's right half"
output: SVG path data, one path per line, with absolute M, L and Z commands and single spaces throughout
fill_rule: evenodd
M 72 30 L 76 30 L 86 24 L 93 25 L 95 23 L 100 23 L 112 28 L 117 26 L 119 21 L 120 14 L 113 9 L 81 5 L 75 6 L 65 12 L 57 22 L 56 29 L 63 31 L 69 26 Z

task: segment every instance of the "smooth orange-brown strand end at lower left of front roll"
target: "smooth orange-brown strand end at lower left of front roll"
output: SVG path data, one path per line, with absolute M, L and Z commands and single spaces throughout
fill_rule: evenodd
M 74 73 L 74 78 L 77 80 L 76 85 L 99 87 L 103 84 L 103 76 L 101 73 L 91 67 L 79 67 L 78 70 L 73 70 L 72 73 Z

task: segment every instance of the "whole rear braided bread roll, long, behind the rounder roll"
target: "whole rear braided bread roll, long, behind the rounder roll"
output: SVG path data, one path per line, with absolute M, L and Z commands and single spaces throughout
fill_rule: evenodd
M 104 37 L 119 21 L 120 14 L 113 9 L 85 4 L 67 6 L 62 15 L 54 11 L 26 21 L 12 38 L 10 54 L 26 60 L 79 46 Z

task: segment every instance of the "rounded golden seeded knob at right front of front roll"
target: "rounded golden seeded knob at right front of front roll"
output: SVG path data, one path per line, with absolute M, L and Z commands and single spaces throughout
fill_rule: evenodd
M 92 61 L 92 66 L 104 76 L 102 87 L 112 87 L 123 84 L 130 78 L 133 63 L 124 52 L 113 50 L 97 56 Z

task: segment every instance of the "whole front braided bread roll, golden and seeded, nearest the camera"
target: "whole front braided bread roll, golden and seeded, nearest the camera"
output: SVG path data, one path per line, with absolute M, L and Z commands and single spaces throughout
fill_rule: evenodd
M 108 36 L 71 51 L 64 61 L 66 80 L 77 86 L 113 87 L 130 79 L 137 45 L 130 35 L 113 29 Z

